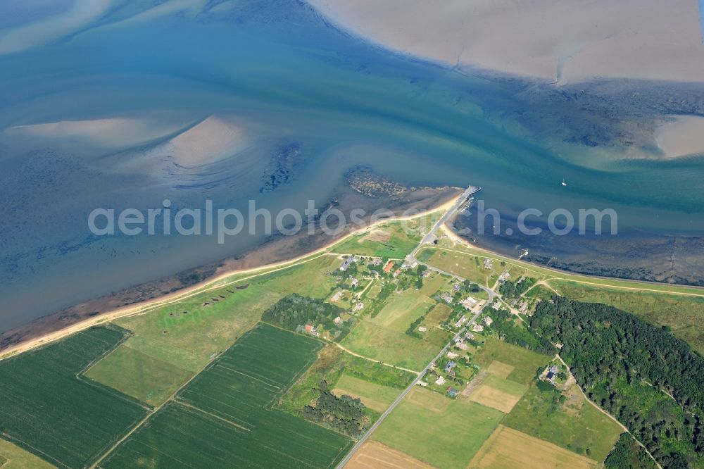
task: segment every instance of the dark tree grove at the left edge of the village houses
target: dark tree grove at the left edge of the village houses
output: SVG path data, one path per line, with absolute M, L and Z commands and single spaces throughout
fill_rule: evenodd
M 336 340 L 341 340 L 348 334 L 349 326 L 348 323 L 334 323 L 340 313 L 344 310 L 338 306 L 294 293 L 284 296 L 264 311 L 262 320 L 288 330 L 301 330 L 306 324 L 322 325 L 335 335 Z

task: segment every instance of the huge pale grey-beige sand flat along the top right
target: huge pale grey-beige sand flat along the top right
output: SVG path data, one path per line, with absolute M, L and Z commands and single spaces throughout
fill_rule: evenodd
M 382 46 L 561 84 L 704 80 L 696 1 L 308 0 Z

